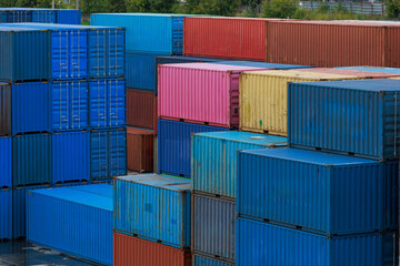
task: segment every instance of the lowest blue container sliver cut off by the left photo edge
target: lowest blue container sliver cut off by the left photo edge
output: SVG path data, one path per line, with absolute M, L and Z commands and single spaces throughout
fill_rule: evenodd
M 0 190 L 0 241 L 12 238 L 12 191 Z

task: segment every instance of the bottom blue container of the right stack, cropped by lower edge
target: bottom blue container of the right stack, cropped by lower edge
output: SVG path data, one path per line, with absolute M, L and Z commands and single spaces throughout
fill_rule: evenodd
M 243 218 L 239 218 L 237 225 L 238 266 L 397 265 L 396 243 L 379 233 L 327 238 Z M 386 247 L 390 248 L 383 253 Z

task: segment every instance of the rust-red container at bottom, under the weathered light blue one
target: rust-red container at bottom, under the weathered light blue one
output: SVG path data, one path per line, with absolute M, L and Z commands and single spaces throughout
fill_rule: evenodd
M 191 266 L 191 254 L 176 247 L 113 233 L 114 266 Z

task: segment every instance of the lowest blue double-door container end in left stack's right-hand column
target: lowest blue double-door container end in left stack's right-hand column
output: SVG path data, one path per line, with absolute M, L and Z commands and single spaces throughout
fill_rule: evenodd
M 90 178 L 110 180 L 127 174 L 127 130 L 90 132 Z

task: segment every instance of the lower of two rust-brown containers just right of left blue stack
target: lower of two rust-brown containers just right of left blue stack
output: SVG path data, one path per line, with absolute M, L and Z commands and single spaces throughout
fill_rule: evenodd
M 128 170 L 149 173 L 153 172 L 154 164 L 154 132 L 127 129 Z

